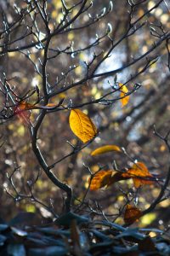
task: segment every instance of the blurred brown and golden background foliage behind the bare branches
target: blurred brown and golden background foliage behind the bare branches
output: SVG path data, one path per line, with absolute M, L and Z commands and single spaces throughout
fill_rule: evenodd
M 41 2 L 41 1 L 40 1 Z M 65 1 L 69 6 L 78 1 Z M 82 26 L 82 29 L 75 29 L 71 32 L 61 32 L 56 37 L 52 38 L 49 46 L 49 55 L 51 58 L 48 61 L 48 83 L 53 84 L 53 90 L 63 88 L 71 81 L 78 81 L 84 77 L 87 72 L 86 63 L 93 59 L 93 55 L 99 55 L 99 58 L 105 56 L 105 53 L 111 47 L 111 40 L 108 37 L 102 38 L 99 44 L 94 44 L 94 47 L 88 48 L 89 44 L 93 44 L 96 38 L 105 35 L 105 32 L 110 29 L 110 37 L 116 42 L 122 37 L 127 30 L 129 19 L 129 5 L 127 1 L 122 0 L 113 1 L 113 9 L 104 18 L 93 22 L 90 26 L 84 26 L 95 15 L 100 15 L 101 10 L 105 7 L 109 8 L 110 1 L 94 0 L 93 7 L 88 9 L 81 18 L 77 19 L 74 27 Z M 137 2 L 137 1 L 136 1 Z M 139 1 L 141 2 L 141 1 Z M 134 9 L 132 20 L 137 20 L 141 15 L 152 8 L 158 1 L 143 1 Z M 89 2 L 90 3 L 90 2 Z M 18 14 L 16 9 L 25 9 L 27 7 L 26 1 L 2 1 L 0 6 L 7 15 L 9 23 L 17 19 Z M 60 0 L 48 0 L 48 14 L 50 29 L 53 31 L 54 26 L 59 24 L 63 17 L 62 3 Z M 73 9 L 70 18 L 78 11 L 78 6 Z M 32 15 L 26 15 L 25 20 L 20 26 L 10 33 L 9 49 L 21 47 L 22 45 L 31 44 L 36 37 L 40 40 L 45 37 L 46 31 L 42 24 L 40 15 L 37 15 L 36 22 L 39 32 L 36 27 L 32 30 L 34 34 L 30 34 L 20 41 L 20 38 L 26 31 L 30 29 Z M 96 16 L 96 19 L 99 16 Z M 1 15 L 0 29 L 3 30 L 3 15 Z M 146 21 L 146 22 L 145 22 Z M 139 55 L 144 54 L 156 41 L 156 37 L 150 34 L 150 27 L 159 30 L 159 26 L 164 31 L 170 28 L 169 6 L 164 1 L 156 9 L 145 15 L 140 21 L 145 22 L 137 32 L 129 38 L 125 38 L 117 47 L 111 52 L 108 57 L 98 68 L 97 73 L 102 73 L 114 70 L 118 67 L 126 65 L 128 62 Z M 109 24 L 109 25 L 108 25 Z M 109 28 L 108 28 L 109 27 Z M 16 42 L 15 42 L 16 40 Z M 14 43 L 13 43 L 14 42 Z M 3 44 L 3 40 L 2 40 Z M 62 50 L 68 48 L 62 53 Z M 51 49 L 51 50 L 50 50 Z M 53 50 L 55 49 L 56 52 Z M 57 55 L 57 49 L 61 51 Z M 84 49 L 84 50 L 81 50 Z M 72 54 L 73 50 L 77 50 Z M 132 161 L 122 157 L 122 154 L 109 153 L 92 157 L 90 153 L 94 148 L 105 144 L 116 144 L 119 147 L 127 149 L 128 154 L 133 160 L 143 161 L 149 168 L 150 172 L 166 177 L 169 154 L 164 143 L 153 134 L 153 127 L 156 125 L 156 130 L 162 135 L 165 135 L 169 129 L 169 70 L 167 67 L 167 47 L 166 44 L 161 44 L 155 50 L 150 52 L 150 58 L 158 55 L 158 60 L 150 66 L 144 73 L 141 73 L 137 78 L 134 78 L 127 84 L 128 89 L 132 89 L 135 83 L 142 84 L 141 88 L 130 96 L 130 102 L 126 107 L 122 108 L 121 102 L 117 101 L 111 106 L 102 104 L 89 104 L 82 108 L 84 113 L 94 120 L 95 125 L 99 128 L 99 137 L 94 140 L 87 148 L 84 148 L 78 154 L 73 154 L 70 158 L 59 162 L 54 166 L 53 172 L 66 183 L 69 183 L 74 189 L 75 198 L 81 200 L 86 189 L 88 181 L 89 166 L 93 172 L 99 170 L 99 166 L 106 166 L 106 169 L 113 169 L 113 162 L 122 169 L 132 165 Z M 40 92 L 42 90 L 42 77 L 38 73 L 40 62 L 43 58 L 42 45 L 39 44 L 34 48 L 23 49 L 20 51 L 8 51 L 8 54 L 0 56 L 0 71 L 1 79 L 3 73 L 10 80 L 10 84 L 15 88 L 18 95 L 22 96 L 26 91 L 31 90 L 35 85 L 38 86 Z M 99 61 L 98 58 L 98 61 Z M 97 61 L 97 60 L 96 60 Z M 127 79 L 139 72 L 144 67 L 145 58 L 137 61 L 133 66 L 127 67 L 121 73 L 117 73 L 117 81 L 125 83 Z M 94 61 L 94 66 L 97 62 Z M 35 70 L 37 67 L 37 71 Z M 71 72 L 68 72 L 71 69 Z M 60 82 L 59 82 L 60 80 Z M 111 91 L 111 84 L 114 84 L 114 76 L 99 77 L 89 80 L 81 86 L 76 86 L 71 90 L 65 90 L 50 99 L 52 103 L 58 103 L 59 100 L 65 98 L 65 105 L 73 102 L 75 105 L 88 102 L 91 99 L 98 99 L 105 93 Z M 56 88 L 57 87 L 57 88 Z M 52 89 L 50 89 L 52 90 Z M 52 90 L 52 91 L 53 91 Z M 110 96 L 113 97 L 112 95 Z M 114 96 L 115 97 L 115 96 Z M 3 95 L 1 96 L 1 107 L 3 108 Z M 30 103 L 37 101 L 37 96 L 34 94 L 29 98 Z M 31 111 L 31 120 L 35 122 L 40 110 Z M 42 150 L 42 154 L 46 156 L 49 165 L 54 161 L 59 160 L 65 154 L 71 151 L 70 143 L 77 145 L 80 142 L 72 134 L 68 116 L 69 111 L 60 111 L 49 113 L 43 120 L 38 144 Z M 21 194 L 28 195 L 28 182 L 33 182 L 37 174 L 40 172 L 37 183 L 34 184 L 33 193 L 39 201 L 49 206 L 50 203 L 54 206 L 56 214 L 62 212 L 63 192 L 54 187 L 48 180 L 46 175 L 40 170 L 37 160 L 31 151 L 31 141 L 28 128 L 26 124 L 20 119 L 20 116 L 15 116 L 7 122 L 0 125 L 1 131 L 1 162 L 0 162 L 0 209 L 1 216 L 10 219 L 14 217 L 17 212 L 39 212 L 44 217 L 52 217 L 50 212 L 46 210 L 42 204 L 29 201 L 28 199 L 17 198 L 15 201 L 10 195 L 15 195 L 14 188 L 8 182 L 8 177 L 14 168 L 14 186 Z M 8 174 L 8 177 L 7 177 Z M 115 214 L 125 203 L 122 191 L 128 191 L 129 196 L 133 196 L 133 182 L 122 181 L 116 183 L 107 189 L 100 189 L 99 191 L 91 191 L 88 193 L 86 201 L 93 206 L 96 211 L 99 211 L 99 206 L 105 214 Z M 155 185 L 144 186 L 139 189 L 138 206 L 141 209 L 149 207 L 150 202 L 158 195 L 160 187 Z M 22 200 L 21 200 L 22 199 Z M 77 205 L 77 199 L 74 204 Z M 99 202 L 99 206 L 96 201 Z M 169 216 L 169 199 L 162 201 L 156 211 L 149 213 L 141 218 L 139 226 L 144 227 L 152 224 L 156 227 L 164 228 L 167 225 Z M 166 209 L 166 211 L 164 211 Z M 89 209 L 84 209 L 85 213 L 89 213 Z M 116 219 L 116 222 L 122 224 L 122 217 Z

